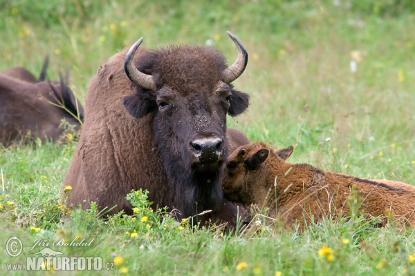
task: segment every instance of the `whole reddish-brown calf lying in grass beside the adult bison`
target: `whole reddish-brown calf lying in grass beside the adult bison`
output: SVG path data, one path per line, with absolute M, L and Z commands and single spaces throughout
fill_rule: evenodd
M 237 148 L 229 157 L 223 180 L 225 198 L 268 207 L 270 215 L 276 215 L 277 210 L 286 224 L 292 226 L 299 221 L 302 228 L 304 219 L 310 222 L 311 217 L 317 221 L 329 215 L 348 215 L 347 201 L 353 200 L 353 189 L 357 189 L 359 210 L 374 217 L 384 216 L 382 224 L 389 215 L 399 223 L 415 223 L 413 186 L 291 164 L 286 159 L 293 149 L 273 150 L 259 142 Z

